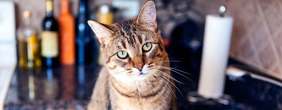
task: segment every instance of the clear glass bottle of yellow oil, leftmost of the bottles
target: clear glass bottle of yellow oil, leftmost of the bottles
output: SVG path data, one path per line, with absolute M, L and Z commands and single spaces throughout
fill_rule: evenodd
M 30 23 L 31 12 L 23 12 L 23 23 L 17 29 L 19 45 L 19 66 L 39 68 L 41 66 L 37 30 Z

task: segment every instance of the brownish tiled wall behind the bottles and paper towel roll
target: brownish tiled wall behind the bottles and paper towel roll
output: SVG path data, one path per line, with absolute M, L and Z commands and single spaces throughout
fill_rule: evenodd
M 33 25 L 41 29 L 45 16 L 45 0 L 11 1 L 16 4 L 17 26 L 21 23 L 21 13 L 31 10 Z M 53 0 L 55 17 L 60 13 L 60 1 Z M 79 0 L 70 1 L 71 12 L 76 15 Z M 90 0 L 89 4 L 111 4 L 111 1 Z M 141 0 L 140 5 L 146 1 Z M 230 56 L 282 79 L 281 0 L 195 0 L 195 4 L 194 8 L 204 15 L 217 14 L 218 6 L 225 4 L 226 14 L 234 17 Z M 195 20 L 197 21 L 197 18 Z

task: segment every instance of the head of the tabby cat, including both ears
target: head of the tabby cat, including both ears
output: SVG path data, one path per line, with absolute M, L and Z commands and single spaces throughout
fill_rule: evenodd
M 148 1 L 137 17 L 111 25 L 88 21 L 100 44 L 105 67 L 118 80 L 145 80 L 156 76 L 156 65 L 169 66 L 156 9 Z

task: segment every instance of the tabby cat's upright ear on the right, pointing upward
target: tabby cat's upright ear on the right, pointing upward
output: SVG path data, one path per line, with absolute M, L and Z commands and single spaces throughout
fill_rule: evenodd
M 148 1 L 141 9 L 140 14 L 137 17 L 137 24 L 143 24 L 145 26 L 157 27 L 156 22 L 156 8 L 153 1 Z

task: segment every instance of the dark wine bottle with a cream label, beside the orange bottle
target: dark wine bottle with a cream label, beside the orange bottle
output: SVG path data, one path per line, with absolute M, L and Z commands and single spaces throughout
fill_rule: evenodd
M 41 56 L 42 64 L 47 67 L 58 65 L 59 56 L 58 24 L 52 15 L 52 8 L 52 1 L 46 0 L 47 14 L 41 33 Z

